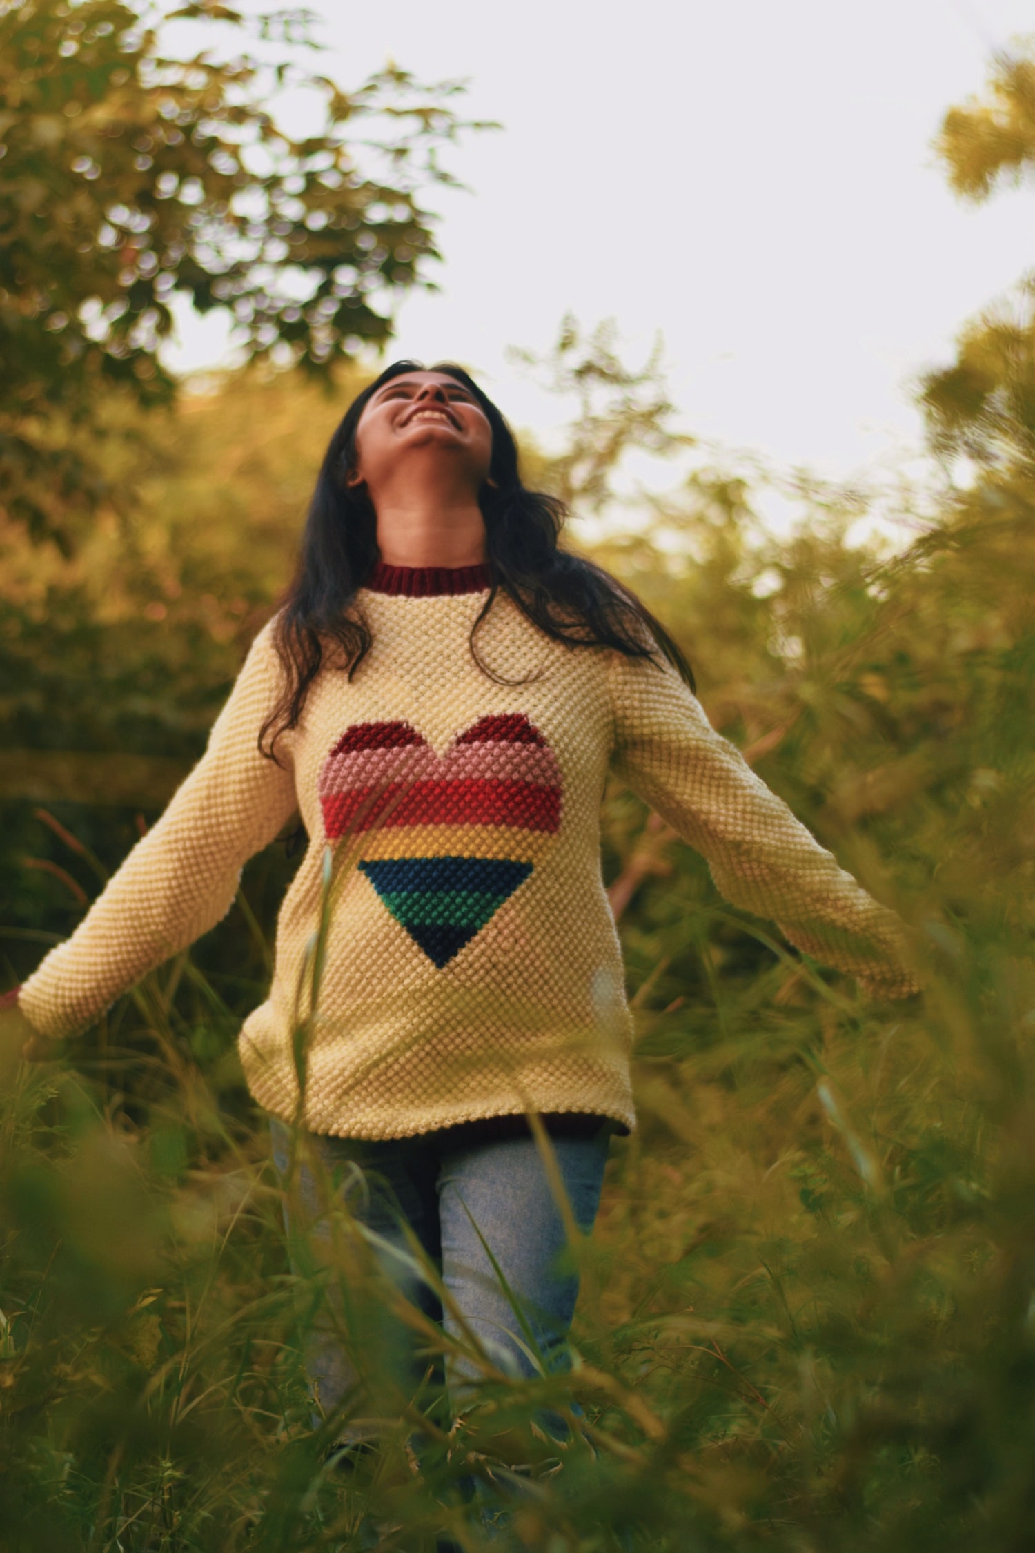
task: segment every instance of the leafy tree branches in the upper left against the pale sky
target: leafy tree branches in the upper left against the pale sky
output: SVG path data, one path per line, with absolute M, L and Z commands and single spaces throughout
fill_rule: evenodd
M 174 16 L 247 25 L 227 6 Z M 62 517 L 102 480 L 54 410 L 90 419 L 113 387 L 168 399 L 177 297 L 230 309 L 248 359 L 315 374 L 388 340 L 393 298 L 438 258 L 419 189 L 447 179 L 436 148 L 462 127 L 456 84 L 391 68 L 346 93 L 304 70 L 301 12 L 261 22 L 275 67 L 169 57 L 160 20 L 121 0 L 0 5 L 0 500 L 65 544 Z M 321 101 L 318 134 L 276 123 L 286 85 Z

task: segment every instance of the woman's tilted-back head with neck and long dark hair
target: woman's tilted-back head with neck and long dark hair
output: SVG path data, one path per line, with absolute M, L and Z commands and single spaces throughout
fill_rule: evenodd
M 556 497 L 523 485 L 511 427 L 462 367 L 386 367 L 349 405 L 317 477 L 298 572 L 276 624 L 286 686 L 262 730 L 264 745 L 272 752 L 296 727 L 329 643 L 349 677 L 358 669 L 371 635 L 355 590 L 379 564 L 379 585 L 394 592 L 444 582 L 430 573 L 393 578 L 385 567 L 486 564 L 489 596 L 470 631 L 475 662 L 478 631 L 503 590 L 552 640 L 663 657 L 692 690 L 689 663 L 639 599 L 559 548 L 563 520 Z

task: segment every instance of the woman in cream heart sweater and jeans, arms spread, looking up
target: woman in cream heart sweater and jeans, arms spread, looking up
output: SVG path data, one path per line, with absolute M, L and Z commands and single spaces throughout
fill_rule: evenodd
M 217 922 L 301 809 L 309 848 L 244 1068 L 286 1174 L 309 1140 L 295 1227 L 329 1235 L 329 1173 L 358 1166 L 335 1179 L 380 1261 L 428 1315 L 445 1306 L 456 1410 L 479 1364 L 565 1365 L 577 1280 L 556 1267 L 545 1160 L 588 1230 L 610 1134 L 635 1126 L 601 879 L 608 767 L 729 901 L 875 994 L 917 989 L 902 922 L 712 730 L 647 610 L 557 548 L 562 516 L 521 486 L 467 373 L 386 368 L 331 441 L 296 579 L 205 756 L 19 992 L 45 1056 Z M 397 1255 L 407 1227 L 438 1291 Z M 329 1438 L 362 1440 L 377 1398 L 346 1346 L 340 1318 L 318 1328 L 310 1379 Z

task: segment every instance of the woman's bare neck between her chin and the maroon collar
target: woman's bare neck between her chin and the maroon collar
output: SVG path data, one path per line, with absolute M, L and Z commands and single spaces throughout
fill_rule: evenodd
M 421 480 L 374 495 L 377 548 L 389 567 L 476 567 L 486 520 L 469 485 Z

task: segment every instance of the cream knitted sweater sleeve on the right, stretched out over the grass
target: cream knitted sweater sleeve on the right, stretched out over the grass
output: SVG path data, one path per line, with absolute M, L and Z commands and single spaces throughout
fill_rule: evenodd
M 756 776 L 675 669 L 619 658 L 608 672 L 614 769 L 706 857 L 718 891 L 872 995 L 919 991 L 905 922 Z

